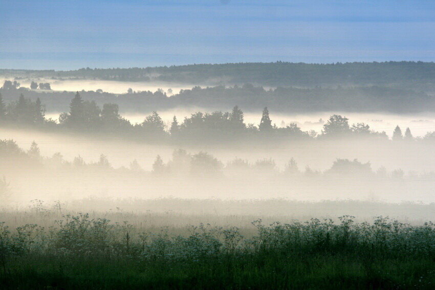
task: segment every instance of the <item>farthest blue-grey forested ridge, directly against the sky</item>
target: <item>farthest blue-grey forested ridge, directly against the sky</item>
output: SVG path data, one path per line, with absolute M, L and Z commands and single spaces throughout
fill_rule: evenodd
M 0 73 L 13 74 L 11 70 Z M 189 64 L 147 68 L 82 68 L 75 71 L 19 71 L 30 76 L 73 77 L 122 81 L 170 81 L 178 83 L 246 83 L 274 86 L 319 86 L 349 84 L 434 83 L 435 63 L 422 61 Z

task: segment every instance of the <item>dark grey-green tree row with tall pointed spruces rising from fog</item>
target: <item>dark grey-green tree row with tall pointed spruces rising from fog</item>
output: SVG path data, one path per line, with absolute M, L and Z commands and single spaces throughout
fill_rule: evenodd
M 257 125 L 246 124 L 244 113 L 234 106 L 230 112 L 198 111 L 185 117 L 181 122 L 173 117 L 167 126 L 156 111 L 146 116 L 142 123 L 132 124 L 119 114 L 119 106 L 114 103 L 103 104 L 100 108 L 95 101 L 83 100 L 77 92 L 70 103 L 70 110 L 59 115 L 58 121 L 45 117 L 45 106 L 39 98 L 36 101 L 26 99 L 21 94 L 17 101 L 6 104 L 0 94 L 0 124 L 32 126 L 36 128 L 64 128 L 83 131 L 103 130 L 106 132 L 133 131 L 148 138 L 221 138 L 232 137 L 292 137 L 294 139 L 322 139 L 339 137 L 374 137 L 388 139 L 386 133 L 370 129 L 365 123 L 350 125 L 349 119 L 341 115 L 332 115 L 323 125 L 321 132 L 302 131 L 296 123 L 278 127 L 272 123 L 269 110 L 263 109 L 262 118 Z M 404 135 L 399 126 L 393 133 L 393 140 L 412 141 L 415 138 L 409 128 Z M 429 132 L 425 139 L 435 139 L 435 133 Z

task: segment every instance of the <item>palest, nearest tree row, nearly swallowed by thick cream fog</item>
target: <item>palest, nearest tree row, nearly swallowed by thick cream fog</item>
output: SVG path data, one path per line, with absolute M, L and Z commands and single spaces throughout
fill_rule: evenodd
M 385 167 L 381 166 L 374 170 L 369 162 L 362 163 L 357 159 L 337 159 L 332 166 L 324 171 L 311 169 L 306 166 L 305 169 L 300 169 L 294 158 L 291 158 L 280 169 L 275 160 L 271 158 L 258 159 L 255 162 L 241 158 L 234 158 L 224 164 L 222 161 L 215 158 L 207 152 L 189 153 L 184 149 L 175 149 L 172 152 L 171 158 L 165 163 L 160 155 L 157 155 L 151 170 L 144 170 L 142 166 L 133 160 L 129 166 L 114 167 L 107 159 L 106 155 L 101 154 L 95 162 L 85 161 L 80 155 L 72 161 L 63 159 L 60 152 L 54 153 L 52 157 L 44 157 L 40 153 L 40 149 L 36 142 L 32 142 L 28 150 L 20 148 L 13 140 L 0 140 L 0 158 L 2 164 L 0 169 L 3 173 L 9 174 L 14 170 L 30 169 L 31 172 L 39 172 L 41 170 L 56 170 L 66 171 L 78 170 L 85 171 L 113 171 L 125 173 L 143 173 L 152 174 L 154 177 L 219 177 L 219 176 L 239 176 L 251 175 L 257 177 L 272 177 L 272 176 L 293 176 L 293 177 L 358 177 L 359 179 L 367 179 L 370 177 L 379 177 L 380 179 L 402 179 L 405 175 L 403 170 L 395 169 L 390 172 Z M 151 164 L 151 163 L 150 163 Z M 35 171 L 36 170 L 36 171 Z M 23 174 L 27 174 L 23 171 Z M 429 175 L 432 176 L 433 172 Z M 415 176 L 414 176 L 415 177 Z M 6 190 L 9 183 L 6 179 L 0 180 L 0 188 Z

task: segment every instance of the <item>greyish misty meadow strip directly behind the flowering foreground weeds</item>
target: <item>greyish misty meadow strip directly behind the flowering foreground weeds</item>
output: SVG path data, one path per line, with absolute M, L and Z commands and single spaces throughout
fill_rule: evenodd
M 211 224 L 213 226 L 236 226 L 253 228 L 251 222 L 262 219 L 265 225 L 295 219 L 355 216 L 355 221 L 372 222 L 379 216 L 419 225 L 435 219 L 435 204 L 382 203 L 358 200 L 323 200 L 321 202 L 298 202 L 288 199 L 96 199 L 86 198 L 45 203 L 32 200 L 27 204 L 0 207 L 0 220 L 8 225 L 38 224 L 49 226 L 64 215 L 89 213 L 91 218 L 107 218 L 112 222 L 142 228 L 185 228 L 188 225 Z

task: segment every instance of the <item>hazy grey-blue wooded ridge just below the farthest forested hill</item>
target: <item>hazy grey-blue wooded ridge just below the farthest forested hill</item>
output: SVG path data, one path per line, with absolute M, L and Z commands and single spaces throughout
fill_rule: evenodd
M 8 82 L 8 83 L 6 83 Z M 0 93 L 7 100 L 25 94 L 32 98 L 40 98 L 50 104 L 50 110 L 64 111 L 72 92 L 56 92 L 47 90 L 50 84 L 40 83 L 42 90 L 29 90 L 27 87 L 5 81 Z M 42 87 L 41 87 L 42 84 Z M 34 88 L 36 82 L 31 84 Z M 230 108 L 234 104 L 247 110 L 257 110 L 267 106 L 283 113 L 300 113 L 316 111 L 387 111 L 393 113 L 410 113 L 435 109 L 435 99 L 425 90 L 412 90 L 411 86 L 337 86 L 301 88 L 294 86 L 264 88 L 251 83 L 243 85 L 212 87 L 194 86 L 189 90 L 181 90 L 173 94 L 170 88 L 156 92 L 135 91 L 129 88 L 125 94 L 112 94 L 96 91 L 80 91 L 85 99 L 92 99 L 102 106 L 104 103 L 118 103 L 124 110 L 142 113 L 150 110 L 162 110 L 175 107 L 222 107 Z M 433 91 L 433 90 L 428 90 Z M 170 95 L 170 97 L 168 97 Z

